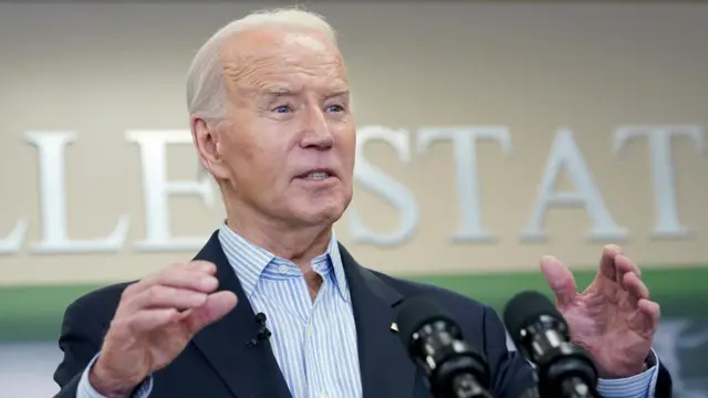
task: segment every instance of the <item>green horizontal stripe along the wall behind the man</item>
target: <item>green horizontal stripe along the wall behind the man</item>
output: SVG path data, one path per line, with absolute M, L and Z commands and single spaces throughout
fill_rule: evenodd
M 580 289 L 594 277 L 594 272 L 576 272 Z M 522 290 L 549 293 L 539 272 L 508 274 L 464 274 L 416 276 L 415 281 L 433 283 L 462 293 L 501 311 L 504 303 Z M 644 271 L 652 298 L 663 306 L 664 316 L 698 316 L 707 313 L 708 266 L 695 269 L 653 269 Z M 13 286 L 0 287 L 0 342 L 55 341 L 66 306 L 97 285 Z

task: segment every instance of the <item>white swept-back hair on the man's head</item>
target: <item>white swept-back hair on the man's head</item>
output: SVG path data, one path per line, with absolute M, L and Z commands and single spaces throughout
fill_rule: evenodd
M 272 25 L 311 29 L 324 34 L 334 46 L 336 33 L 325 19 L 314 12 L 298 8 L 279 8 L 257 11 L 219 29 L 197 51 L 187 72 L 187 109 L 189 115 L 199 114 L 207 119 L 218 121 L 223 115 L 226 82 L 220 63 L 220 48 L 225 39 L 239 32 Z

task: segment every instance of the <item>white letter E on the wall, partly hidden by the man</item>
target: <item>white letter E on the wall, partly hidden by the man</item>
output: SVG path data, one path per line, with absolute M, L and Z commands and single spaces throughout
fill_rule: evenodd
M 142 251 L 198 250 L 207 237 L 175 238 L 169 231 L 171 196 L 197 196 L 208 207 L 215 197 L 209 177 L 194 181 L 167 181 L 167 145 L 191 144 L 189 130 L 127 130 L 125 138 L 140 147 L 143 191 L 145 198 L 145 240 L 136 245 Z

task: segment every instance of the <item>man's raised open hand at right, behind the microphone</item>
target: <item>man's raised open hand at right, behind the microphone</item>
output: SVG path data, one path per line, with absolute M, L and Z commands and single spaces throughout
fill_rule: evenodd
M 643 371 L 659 320 L 659 305 L 649 301 L 642 271 L 616 245 L 604 248 L 592 284 L 577 293 L 571 271 L 546 255 L 541 270 L 555 293 L 573 343 L 593 356 L 602 378 Z

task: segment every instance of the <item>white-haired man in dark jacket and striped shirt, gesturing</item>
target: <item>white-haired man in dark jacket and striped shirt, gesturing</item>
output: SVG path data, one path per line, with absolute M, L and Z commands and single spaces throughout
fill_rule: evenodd
M 187 93 L 227 220 L 192 261 L 66 310 L 58 397 L 430 397 L 391 328 L 414 295 L 444 305 L 486 353 L 496 397 L 532 385 L 492 310 L 368 270 L 336 241 L 356 134 L 346 69 L 322 18 L 277 10 L 228 24 L 197 53 Z M 583 294 L 558 260 L 541 268 L 575 343 L 596 359 L 601 394 L 667 396 L 650 349 L 659 307 L 637 266 L 605 248 Z M 257 313 L 271 336 L 253 339 Z

